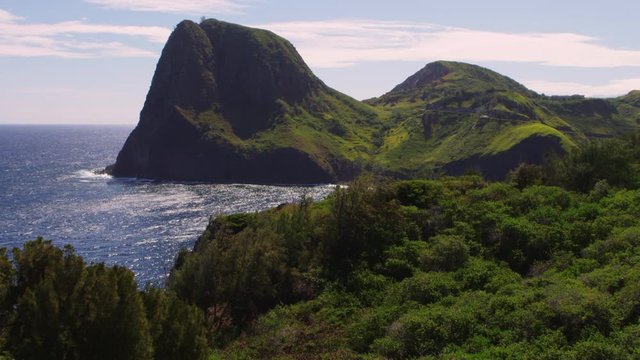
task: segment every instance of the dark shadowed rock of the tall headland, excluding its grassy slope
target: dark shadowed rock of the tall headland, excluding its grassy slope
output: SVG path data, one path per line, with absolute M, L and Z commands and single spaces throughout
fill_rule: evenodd
M 343 169 L 339 154 L 321 157 L 304 146 L 273 144 L 257 149 L 243 142 L 272 128 L 287 108 L 331 92 L 293 46 L 273 33 L 216 20 L 183 21 L 162 51 L 140 122 L 110 171 L 216 182 L 350 178 L 354 171 Z M 228 124 L 231 133 L 215 134 L 211 123 L 194 121 L 205 112 Z

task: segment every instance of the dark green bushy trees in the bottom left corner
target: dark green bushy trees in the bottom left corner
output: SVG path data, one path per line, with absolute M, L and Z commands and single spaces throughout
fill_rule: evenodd
M 209 352 L 199 309 L 166 300 L 162 290 L 141 294 L 131 271 L 87 266 L 71 247 L 38 238 L 14 249 L 11 262 L 3 249 L 0 275 L 0 336 L 16 358 L 204 359 Z

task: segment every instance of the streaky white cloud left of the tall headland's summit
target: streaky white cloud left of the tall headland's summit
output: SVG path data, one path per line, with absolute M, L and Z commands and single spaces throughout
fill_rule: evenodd
M 155 57 L 154 51 L 121 41 L 96 39 L 95 36 L 137 37 L 152 43 L 164 43 L 169 33 L 169 29 L 157 26 L 91 24 L 86 21 L 34 24 L 0 10 L 0 56 Z M 87 38 L 89 35 L 94 38 Z

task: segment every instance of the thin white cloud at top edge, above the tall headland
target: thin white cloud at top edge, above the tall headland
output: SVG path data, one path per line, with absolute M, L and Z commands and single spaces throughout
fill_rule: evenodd
M 176 14 L 212 15 L 237 14 L 247 6 L 247 1 L 237 0 L 85 0 L 110 9 L 154 11 Z

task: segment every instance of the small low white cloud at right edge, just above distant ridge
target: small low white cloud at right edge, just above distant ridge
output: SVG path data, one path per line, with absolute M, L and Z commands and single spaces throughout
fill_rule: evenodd
M 632 89 L 640 89 L 640 79 L 611 80 L 605 84 L 581 84 L 574 82 L 523 81 L 530 89 L 548 95 L 580 94 L 589 97 L 614 97 L 627 94 Z

